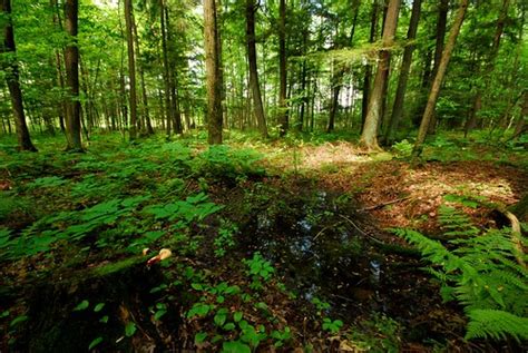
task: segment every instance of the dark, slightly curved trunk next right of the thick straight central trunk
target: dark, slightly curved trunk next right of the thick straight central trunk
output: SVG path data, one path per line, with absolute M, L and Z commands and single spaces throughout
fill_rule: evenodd
M 258 129 L 264 138 L 267 138 L 266 116 L 262 105 L 261 86 L 258 84 L 258 70 L 256 66 L 256 39 L 255 39 L 255 0 L 246 0 L 246 41 L 247 60 L 250 63 L 250 88 L 253 94 L 253 106 Z

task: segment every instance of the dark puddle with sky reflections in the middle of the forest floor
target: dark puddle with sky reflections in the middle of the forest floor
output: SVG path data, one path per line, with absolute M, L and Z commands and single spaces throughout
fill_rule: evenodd
M 350 317 L 365 305 L 383 310 L 378 293 L 384 281 L 383 259 L 338 208 L 325 192 L 289 200 L 280 212 L 268 207 L 252 217 L 242 232 L 252 236 L 241 242 L 248 252 L 260 251 L 278 264 L 300 297 L 330 303 L 332 314 Z

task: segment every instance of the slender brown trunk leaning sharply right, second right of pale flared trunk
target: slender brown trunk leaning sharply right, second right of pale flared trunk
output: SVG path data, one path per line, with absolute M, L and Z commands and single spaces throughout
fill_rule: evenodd
M 449 32 L 448 42 L 446 49 L 443 50 L 440 65 L 438 67 L 437 75 L 432 82 L 431 91 L 426 106 L 426 111 L 423 112 L 422 122 L 420 124 L 420 129 L 418 130 L 418 138 L 412 150 L 413 157 L 418 157 L 421 154 L 422 144 L 426 140 L 426 136 L 429 129 L 429 124 L 434 114 L 434 107 L 437 105 L 438 96 L 440 95 L 440 87 L 446 76 L 448 69 L 449 60 L 451 59 L 452 51 L 454 49 L 454 43 L 457 42 L 458 33 L 462 27 L 463 18 L 468 9 L 469 0 L 460 0 L 460 6 L 457 12 L 457 17 L 452 24 L 451 31 Z

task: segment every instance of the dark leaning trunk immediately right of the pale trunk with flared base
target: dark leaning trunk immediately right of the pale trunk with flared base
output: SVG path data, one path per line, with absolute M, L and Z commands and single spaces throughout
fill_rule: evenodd
M 409 79 L 409 71 L 412 62 L 412 52 L 414 51 L 413 40 L 417 38 L 418 22 L 420 20 L 421 0 L 414 0 L 412 3 L 412 14 L 407 32 L 408 45 L 403 51 L 403 59 L 401 61 L 400 77 L 398 79 L 398 89 L 394 98 L 394 106 L 392 108 L 391 118 L 385 129 L 384 143 L 392 144 L 394 140 L 394 133 L 400 122 L 403 112 L 403 101 L 405 99 L 407 81 Z

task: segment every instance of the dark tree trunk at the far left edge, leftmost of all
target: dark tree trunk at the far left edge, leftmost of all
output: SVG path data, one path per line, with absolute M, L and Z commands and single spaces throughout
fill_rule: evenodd
M 2 63 L 2 70 L 6 72 L 6 81 L 8 84 L 9 94 L 11 95 L 18 146 L 21 150 L 37 151 L 37 148 L 35 148 L 33 144 L 31 143 L 29 129 L 26 124 L 26 116 L 23 112 L 22 90 L 20 89 L 18 63 L 16 61 L 17 48 L 14 45 L 14 31 L 11 20 L 11 0 L 1 0 L 0 6 L 4 22 L 3 46 L 1 46 L 0 52 L 12 53 L 11 58 L 4 59 L 7 62 Z

